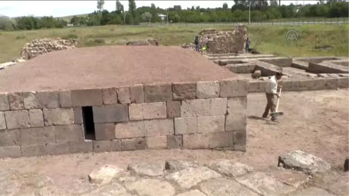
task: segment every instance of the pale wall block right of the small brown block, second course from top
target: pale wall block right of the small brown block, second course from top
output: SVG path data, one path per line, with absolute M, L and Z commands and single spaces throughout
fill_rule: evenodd
M 180 116 L 208 116 L 210 113 L 210 99 L 183 100 L 180 106 Z

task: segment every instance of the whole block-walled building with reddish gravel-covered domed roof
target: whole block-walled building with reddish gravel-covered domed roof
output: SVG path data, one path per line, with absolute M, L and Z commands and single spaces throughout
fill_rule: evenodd
M 129 58 L 134 53 L 139 59 Z M 95 54 L 119 54 L 119 63 L 111 65 L 113 59 Z M 164 55 L 166 61 L 154 61 L 151 54 Z M 70 61 L 81 55 L 81 61 Z M 56 61 L 48 66 L 51 59 Z M 35 78 L 37 69 L 47 75 Z M 178 73 L 183 69 L 187 72 Z M 79 72 L 82 75 L 75 75 Z M 26 83 L 10 82 L 8 77 L 14 74 Z M 192 51 L 161 46 L 57 51 L 4 69 L 0 78 L 0 157 L 173 148 L 246 150 L 247 81 Z

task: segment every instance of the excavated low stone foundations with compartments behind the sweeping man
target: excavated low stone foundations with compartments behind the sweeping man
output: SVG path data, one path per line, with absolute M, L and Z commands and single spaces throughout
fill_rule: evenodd
M 242 74 L 249 80 L 248 92 L 264 92 L 266 79 L 278 71 L 285 75 L 279 81 L 283 91 L 349 88 L 349 59 L 346 57 L 292 59 L 270 54 L 207 54 L 206 57 L 233 73 Z M 253 77 L 254 73 L 261 77 Z

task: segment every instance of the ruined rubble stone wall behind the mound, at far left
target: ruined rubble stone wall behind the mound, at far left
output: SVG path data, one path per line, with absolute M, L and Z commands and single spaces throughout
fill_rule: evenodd
M 75 48 L 77 43 L 78 43 L 77 39 L 61 39 L 61 38 L 34 39 L 30 43 L 27 43 L 27 46 L 22 48 L 21 58 L 28 60 L 47 52 L 65 50 L 68 48 Z

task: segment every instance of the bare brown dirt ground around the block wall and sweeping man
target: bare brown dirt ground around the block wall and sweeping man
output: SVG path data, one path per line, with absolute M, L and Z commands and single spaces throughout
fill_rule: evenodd
M 103 164 L 122 168 L 136 161 L 191 159 L 205 163 L 211 159 L 236 159 L 255 169 L 277 165 L 279 154 L 303 150 L 343 167 L 349 156 L 349 89 L 283 92 L 279 123 L 262 120 L 266 99 L 263 93 L 248 95 L 248 149 L 246 153 L 211 150 L 146 150 L 62 156 L 1 159 L 0 173 L 10 169 L 15 178 L 27 180 L 33 174 L 49 176 L 55 186 L 68 189 L 87 184 L 87 175 Z M 80 185 L 79 185 L 80 184 Z M 1 195 L 1 194 L 0 194 Z

